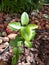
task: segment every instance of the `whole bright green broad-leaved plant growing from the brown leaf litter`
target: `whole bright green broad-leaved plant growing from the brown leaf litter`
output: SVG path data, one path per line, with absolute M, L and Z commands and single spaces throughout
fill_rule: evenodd
M 12 65 L 15 65 L 19 59 L 21 54 L 21 45 L 32 47 L 31 40 L 34 39 L 36 32 L 34 29 L 38 28 L 36 24 L 29 24 L 29 16 L 26 12 L 24 12 L 21 16 L 21 24 L 20 22 L 10 22 L 8 27 L 11 30 L 19 31 L 19 34 L 10 42 L 10 45 L 13 46 L 13 58 Z M 25 53 L 25 51 L 24 51 Z

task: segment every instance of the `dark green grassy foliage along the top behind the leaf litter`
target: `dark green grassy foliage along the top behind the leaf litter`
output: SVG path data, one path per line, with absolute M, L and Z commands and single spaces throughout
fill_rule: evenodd
M 22 13 L 24 11 L 32 11 L 38 9 L 44 0 L 1 0 L 0 11 L 9 13 L 17 12 Z

